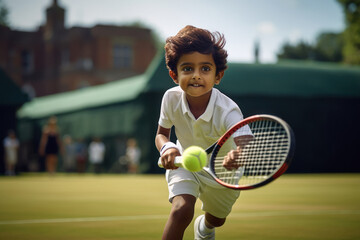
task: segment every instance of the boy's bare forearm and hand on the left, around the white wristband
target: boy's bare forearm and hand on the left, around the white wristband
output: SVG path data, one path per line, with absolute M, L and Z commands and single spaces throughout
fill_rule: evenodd
M 170 132 L 171 129 L 163 128 L 160 125 L 158 126 L 155 137 L 155 145 L 159 152 L 167 142 L 170 142 Z M 161 155 L 161 162 L 165 169 L 177 169 L 177 167 L 174 165 L 176 156 L 180 156 L 179 149 L 176 147 L 169 148 L 163 152 Z

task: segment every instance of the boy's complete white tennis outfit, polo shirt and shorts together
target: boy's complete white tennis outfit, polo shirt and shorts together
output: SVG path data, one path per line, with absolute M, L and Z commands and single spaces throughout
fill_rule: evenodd
M 242 119 L 237 104 L 216 88 L 212 90 L 205 112 L 195 119 L 185 93 L 177 86 L 167 90 L 163 96 L 159 125 L 168 129 L 175 127 L 176 144 L 182 153 L 192 145 L 206 149 Z M 208 168 L 201 172 L 189 172 L 183 168 L 167 170 L 169 201 L 177 195 L 190 194 L 200 198 L 202 210 L 215 217 L 225 218 L 231 212 L 240 191 L 221 186 L 208 171 Z

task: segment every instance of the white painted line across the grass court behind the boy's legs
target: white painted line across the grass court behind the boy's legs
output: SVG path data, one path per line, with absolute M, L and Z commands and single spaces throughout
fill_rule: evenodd
M 296 215 L 345 215 L 360 214 L 359 210 L 304 210 L 304 211 L 279 211 L 279 212 L 253 212 L 230 214 L 229 218 L 248 217 L 274 217 Z M 168 215 L 138 215 L 138 216 L 113 216 L 113 217 L 86 217 L 86 218 L 54 218 L 54 219 L 28 219 L 0 221 L 0 225 L 35 224 L 35 223 L 74 223 L 74 222 L 106 222 L 106 221 L 131 221 L 131 220 L 157 220 L 167 219 Z

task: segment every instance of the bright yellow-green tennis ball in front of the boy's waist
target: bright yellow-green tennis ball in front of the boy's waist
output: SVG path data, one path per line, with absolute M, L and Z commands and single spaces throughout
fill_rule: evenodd
M 207 164 L 207 154 L 204 149 L 191 146 L 182 155 L 182 165 L 190 172 L 199 172 Z

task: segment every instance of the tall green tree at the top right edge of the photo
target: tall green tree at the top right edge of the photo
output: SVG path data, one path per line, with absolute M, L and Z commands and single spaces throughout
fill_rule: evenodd
M 345 13 L 344 60 L 360 65 L 360 0 L 338 0 Z

